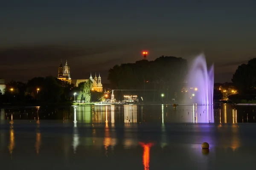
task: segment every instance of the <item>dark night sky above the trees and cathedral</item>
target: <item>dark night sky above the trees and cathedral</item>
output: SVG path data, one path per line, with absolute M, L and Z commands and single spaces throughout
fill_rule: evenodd
M 256 0 L 3 0 L 0 78 L 57 76 L 68 59 L 71 78 L 100 71 L 105 83 L 148 50 L 148 60 L 204 52 L 215 82 L 230 82 L 256 57 L 255 18 Z

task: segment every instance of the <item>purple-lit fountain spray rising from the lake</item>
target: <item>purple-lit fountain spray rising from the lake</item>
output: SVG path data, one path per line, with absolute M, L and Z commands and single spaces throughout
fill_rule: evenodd
M 190 103 L 198 105 L 213 104 L 213 81 L 214 67 L 207 69 L 206 59 L 204 54 L 199 55 L 192 62 L 188 75 L 188 92 Z

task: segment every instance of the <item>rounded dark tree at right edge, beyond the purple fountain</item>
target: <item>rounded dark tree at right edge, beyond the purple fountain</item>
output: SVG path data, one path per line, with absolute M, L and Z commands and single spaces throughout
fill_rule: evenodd
M 242 93 L 256 89 L 256 58 L 250 59 L 247 64 L 239 65 L 233 74 L 232 82 Z

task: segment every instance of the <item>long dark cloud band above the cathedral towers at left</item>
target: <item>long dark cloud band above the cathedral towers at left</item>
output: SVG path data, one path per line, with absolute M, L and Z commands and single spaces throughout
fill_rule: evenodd
M 69 59 L 71 57 L 101 54 L 110 48 L 81 48 L 73 46 L 37 46 L 22 48 L 7 48 L 0 50 L 2 64 L 28 64 L 49 62 L 52 59 Z

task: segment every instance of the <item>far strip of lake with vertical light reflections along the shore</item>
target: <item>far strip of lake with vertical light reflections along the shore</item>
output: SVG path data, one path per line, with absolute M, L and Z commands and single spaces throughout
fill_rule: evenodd
M 171 105 L 78 106 L 76 121 L 83 123 L 238 123 L 256 122 L 256 106 Z M 2 108 L 0 123 L 6 119 L 73 120 L 74 107 Z

